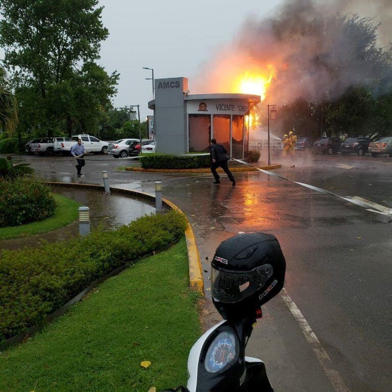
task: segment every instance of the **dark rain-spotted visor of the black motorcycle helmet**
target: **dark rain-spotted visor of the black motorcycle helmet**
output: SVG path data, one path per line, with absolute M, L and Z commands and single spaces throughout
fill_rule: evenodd
M 271 264 L 263 264 L 247 272 L 212 268 L 212 297 L 225 303 L 241 301 L 262 289 L 273 272 Z

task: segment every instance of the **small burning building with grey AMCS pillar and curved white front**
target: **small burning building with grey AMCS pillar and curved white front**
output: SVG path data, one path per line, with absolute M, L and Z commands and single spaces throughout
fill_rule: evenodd
M 168 154 L 208 152 L 215 138 L 233 158 L 249 150 L 252 110 L 261 96 L 242 93 L 189 94 L 187 78 L 155 80 L 156 151 Z

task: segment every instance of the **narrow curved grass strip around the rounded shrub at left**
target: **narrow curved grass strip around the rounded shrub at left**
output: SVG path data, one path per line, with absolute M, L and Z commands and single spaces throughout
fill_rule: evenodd
M 80 204 L 61 194 L 54 193 L 54 197 L 58 207 L 53 216 L 40 220 L 39 222 L 29 223 L 28 225 L 2 227 L 0 228 L 0 240 L 46 233 L 74 222 L 78 217 L 78 207 Z

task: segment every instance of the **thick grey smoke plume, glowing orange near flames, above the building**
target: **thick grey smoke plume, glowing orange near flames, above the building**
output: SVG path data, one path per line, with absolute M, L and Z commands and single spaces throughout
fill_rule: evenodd
M 289 0 L 247 20 L 237 37 L 192 92 L 239 92 L 231 81 L 244 72 L 266 79 L 273 72 L 266 96 L 278 105 L 334 100 L 351 86 L 377 96 L 392 89 L 392 0 Z

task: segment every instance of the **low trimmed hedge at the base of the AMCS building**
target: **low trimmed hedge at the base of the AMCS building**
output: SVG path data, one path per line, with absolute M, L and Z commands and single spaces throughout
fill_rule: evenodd
M 198 169 L 211 165 L 210 155 L 151 155 L 139 161 L 145 169 Z

